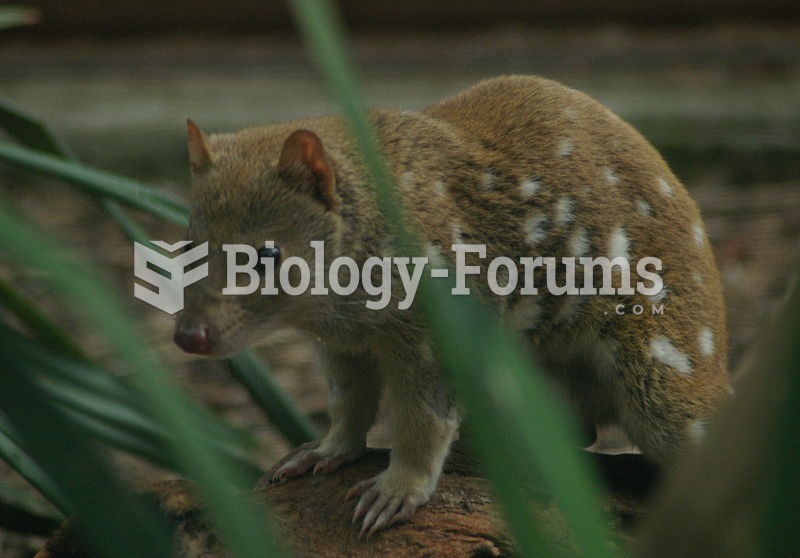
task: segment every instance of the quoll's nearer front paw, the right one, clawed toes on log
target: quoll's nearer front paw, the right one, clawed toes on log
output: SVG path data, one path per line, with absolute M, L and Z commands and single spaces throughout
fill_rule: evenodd
M 408 521 L 417 508 L 426 504 L 433 490 L 419 488 L 425 482 L 399 479 L 389 471 L 361 481 L 347 492 L 347 499 L 360 497 L 353 512 L 353 523 L 364 518 L 359 536 L 372 535 L 390 525 Z

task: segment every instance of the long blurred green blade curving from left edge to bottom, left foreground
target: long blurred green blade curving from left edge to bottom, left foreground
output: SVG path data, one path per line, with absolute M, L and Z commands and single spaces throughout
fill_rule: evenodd
M 135 371 L 131 379 L 137 382 L 136 387 L 154 415 L 172 433 L 170 449 L 180 470 L 197 481 L 231 553 L 240 557 L 280 555 L 274 538 L 265 533 L 264 514 L 232 490 L 232 486 L 247 485 L 247 479 L 224 467 L 206 446 L 195 424 L 195 414 L 182 403 L 180 392 L 168 381 L 161 363 L 145 349 L 144 337 L 120 310 L 120 301 L 105 281 L 90 265 L 21 219 L 4 202 L 0 202 L 0 252 L 10 263 L 36 270 L 41 280 L 70 302 L 79 316 L 103 332 L 126 368 Z M 0 382 L 7 383 L 2 378 Z

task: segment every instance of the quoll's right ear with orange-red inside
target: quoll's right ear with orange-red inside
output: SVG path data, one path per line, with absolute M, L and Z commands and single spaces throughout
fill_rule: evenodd
M 309 130 L 295 130 L 283 142 L 278 171 L 288 175 L 312 178 L 320 199 L 329 211 L 338 211 L 336 177 L 333 174 L 322 140 Z

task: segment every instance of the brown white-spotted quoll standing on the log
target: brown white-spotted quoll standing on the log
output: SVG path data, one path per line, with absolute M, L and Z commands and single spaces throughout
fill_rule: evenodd
M 697 421 L 728 388 L 719 276 L 696 205 L 646 140 L 587 96 L 522 76 L 484 81 L 421 112 L 375 111 L 372 120 L 429 251 L 453 260 L 453 243 L 487 246 L 485 260 L 467 258 L 482 266 L 472 286 L 530 339 L 588 424 L 620 425 L 660 462 L 680 453 L 691 432 L 701 433 Z M 293 147 L 287 138 L 297 130 L 313 132 L 320 147 Z M 362 496 L 356 515 L 367 515 L 366 531 L 407 519 L 435 488 L 456 417 L 419 315 L 397 309 L 403 293 L 396 269 L 392 302 L 380 311 L 365 307 L 374 297 L 361 289 L 349 297 L 220 295 L 223 243 L 274 240 L 284 260 L 304 258 L 312 277 L 312 240 L 325 241 L 326 270 L 340 255 L 359 266 L 392 255 L 352 137 L 339 118 L 208 139 L 190 127 L 190 155 L 189 238 L 210 242 L 211 277 L 187 291 L 178 329 L 202 324 L 214 356 L 287 324 L 323 342 L 333 426 L 318 449 L 285 465 L 281 478 L 312 466 L 332 470 L 359 455 L 387 386 L 396 408 L 391 465 L 354 488 Z M 579 247 L 585 253 L 571 253 Z M 662 260 L 666 296 L 654 301 L 663 315 L 651 315 L 654 302 L 641 294 L 548 295 L 541 268 L 537 296 L 520 295 L 522 277 L 507 297 L 492 297 L 486 287 L 488 263 L 498 256 L 518 262 L 614 250 L 634 261 Z M 599 285 L 598 269 L 595 275 Z M 563 282 L 563 271 L 559 277 Z M 618 304 L 625 315 L 616 313 Z M 646 311 L 632 314 L 634 304 Z

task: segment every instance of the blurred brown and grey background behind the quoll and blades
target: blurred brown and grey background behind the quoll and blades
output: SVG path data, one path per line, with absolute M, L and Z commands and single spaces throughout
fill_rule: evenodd
M 38 23 L 0 31 L 0 97 L 41 118 L 83 162 L 178 195 L 188 184 L 187 117 L 222 132 L 336 110 L 282 3 L 26 5 Z M 372 105 L 414 109 L 482 78 L 540 74 L 596 97 L 642 131 L 701 206 L 738 367 L 798 269 L 800 3 L 340 6 Z M 4 164 L 0 189 L 132 292 L 132 247 L 94 203 Z M 154 237 L 181 238 L 180 229 L 145 221 Z M 131 308 L 187 389 L 259 436 L 265 465 L 288 449 L 224 369 L 172 345 L 171 317 L 132 296 Z M 309 342 L 281 332 L 262 354 L 324 427 L 325 389 Z M 371 443 L 385 443 L 380 429 Z M 0 532 L 4 557 L 30 555 L 32 544 Z

